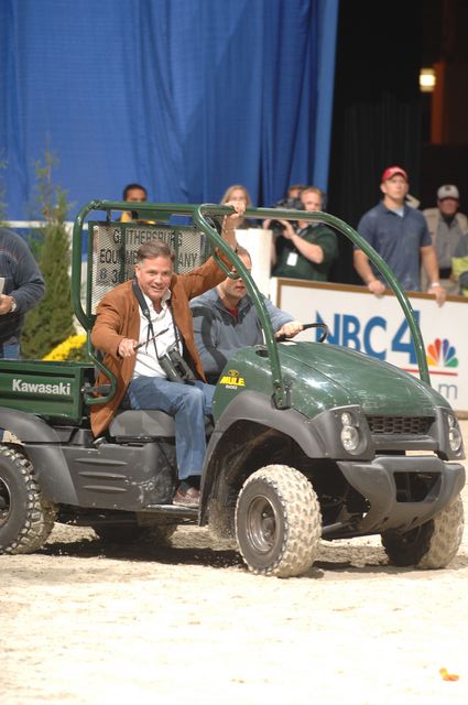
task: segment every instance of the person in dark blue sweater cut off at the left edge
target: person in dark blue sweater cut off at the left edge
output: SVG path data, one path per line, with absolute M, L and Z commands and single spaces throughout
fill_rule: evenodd
M 44 280 L 24 240 L 0 227 L 0 358 L 20 357 L 24 314 L 44 295 Z

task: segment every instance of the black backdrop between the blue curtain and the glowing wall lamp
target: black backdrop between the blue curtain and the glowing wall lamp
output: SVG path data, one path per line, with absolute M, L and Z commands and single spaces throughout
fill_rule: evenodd
M 422 112 L 418 74 L 423 3 L 340 2 L 328 210 L 356 227 L 380 199 L 380 176 L 403 166 L 420 189 Z M 331 279 L 360 283 L 351 243 L 340 237 Z

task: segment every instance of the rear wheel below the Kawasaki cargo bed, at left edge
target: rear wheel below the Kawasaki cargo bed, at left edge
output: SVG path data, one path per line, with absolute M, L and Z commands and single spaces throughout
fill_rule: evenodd
M 55 507 L 40 491 L 30 460 L 0 445 L 0 553 L 33 553 L 47 540 Z

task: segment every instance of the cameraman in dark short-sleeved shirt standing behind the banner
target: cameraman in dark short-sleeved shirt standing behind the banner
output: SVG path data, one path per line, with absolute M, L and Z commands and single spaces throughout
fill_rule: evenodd
M 325 194 L 316 186 L 306 186 L 300 194 L 304 210 L 322 210 Z M 295 226 L 280 220 L 284 227 L 272 248 L 272 276 L 327 281 L 337 256 L 337 236 L 323 223 L 300 220 Z

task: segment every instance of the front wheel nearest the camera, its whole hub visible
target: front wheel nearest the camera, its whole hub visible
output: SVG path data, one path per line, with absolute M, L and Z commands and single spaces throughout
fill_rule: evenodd
M 298 470 L 269 465 L 247 478 L 236 507 L 236 538 L 252 573 L 292 577 L 314 563 L 322 517 L 311 482 Z

